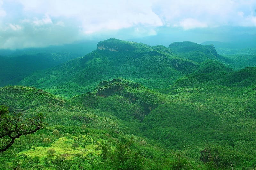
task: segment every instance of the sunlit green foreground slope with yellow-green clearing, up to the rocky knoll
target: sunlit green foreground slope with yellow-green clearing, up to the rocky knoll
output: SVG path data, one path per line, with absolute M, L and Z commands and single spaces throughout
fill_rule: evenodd
M 133 98 L 122 96 L 127 94 L 124 91 L 108 93 L 105 97 L 98 93 L 100 89 L 111 87 L 115 82 L 125 89 L 132 90 L 131 94 L 133 92 L 135 97 L 137 95 L 141 99 L 131 102 Z M 94 93 L 76 96 L 68 101 L 34 87 L 1 87 L 0 104 L 8 104 L 11 112 L 21 111 L 25 115 L 46 112 L 45 122 L 48 125 L 35 134 L 22 136 L 16 140 L 1 156 L 0 167 L 55 169 L 59 166 L 72 166 L 116 169 L 120 166 L 132 169 L 169 169 L 175 167 L 180 160 L 184 162 L 182 166 L 186 169 L 196 167 L 189 163 L 190 158 L 187 156 L 176 158 L 176 151 L 159 148 L 155 146 L 155 142 L 143 137 L 140 131 L 143 124 L 137 115 L 140 115 L 139 111 L 144 112 L 142 101 L 150 99 L 145 98 L 145 95 L 148 92 L 156 95 L 156 92 L 124 79 L 102 82 L 96 90 Z M 88 100 L 92 98 L 95 100 Z M 49 143 L 46 139 L 49 139 Z M 72 148 L 73 143 L 77 143 L 78 148 Z M 55 151 L 52 156 L 47 155 L 49 149 Z M 121 156 L 118 156 L 118 153 Z M 58 163 L 58 159 L 63 161 Z M 16 164 L 16 161 L 19 161 L 19 164 Z M 95 163 L 92 164 L 92 161 Z M 196 164 L 202 165 L 200 161 Z

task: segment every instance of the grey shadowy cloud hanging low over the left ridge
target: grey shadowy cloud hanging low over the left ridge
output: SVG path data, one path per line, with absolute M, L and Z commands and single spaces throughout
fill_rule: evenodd
M 23 19 L 18 24 L 3 25 L 0 27 L 0 35 L 0 47 L 10 49 L 71 43 L 81 37 L 72 24 L 52 24 L 48 17 Z

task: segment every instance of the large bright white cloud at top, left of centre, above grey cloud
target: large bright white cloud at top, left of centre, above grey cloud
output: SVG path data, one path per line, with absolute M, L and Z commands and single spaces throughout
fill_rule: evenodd
M 78 24 L 84 33 L 118 30 L 137 25 L 162 26 L 150 2 L 142 1 L 62 1 L 33 2 L 21 0 L 24 11 L 39 12 L 52 17 L 65 17 Z

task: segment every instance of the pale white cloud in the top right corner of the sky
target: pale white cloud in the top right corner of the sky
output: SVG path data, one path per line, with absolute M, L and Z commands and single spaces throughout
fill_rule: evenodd
M 255 0 L 159 0 L 153 5 L 153 11 L 159 15 L 165 25 L 170 26 L 182 26 L 182 22 L 187 18 L 194 18 L 203 23 L 203 25 L 198 24 L 198 27 L 243 26 L 246 18 L 255 9 Z M 187 29 L 185 23 L 183 28 Z

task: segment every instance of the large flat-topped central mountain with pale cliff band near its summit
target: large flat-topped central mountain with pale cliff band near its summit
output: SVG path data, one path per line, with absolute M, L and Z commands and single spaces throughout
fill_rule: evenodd
M 108 39 L 82 58 L 33 74 L 20 84 L 72 97 L 92 91 L 102 80 L 126 78 L 149 88 L 165 88 L 198 68 L 198 63 L 179 58 L 164 46 Z M 65 89 L 65 90 L 63 90 Z

